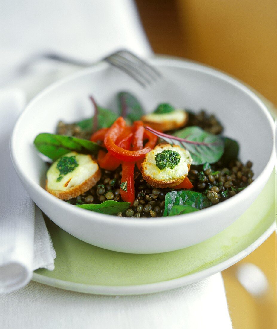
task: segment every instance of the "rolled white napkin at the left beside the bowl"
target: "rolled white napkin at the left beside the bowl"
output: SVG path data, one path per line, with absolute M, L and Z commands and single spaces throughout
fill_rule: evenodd
M 24 102 L 20 90 L 0 91 L 0 293 L 24 287 L 39 267 L 53 270 L 56 257 L 42 214 L 10 158 L 10 135 Z

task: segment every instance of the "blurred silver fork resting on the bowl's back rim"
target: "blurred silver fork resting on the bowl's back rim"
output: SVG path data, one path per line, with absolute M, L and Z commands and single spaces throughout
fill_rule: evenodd
M 82 67 L 94 64 L 59 54 L 45 53 L 31 57 L 26 63 L 20 66 L 19 71 L 24 73 L 31 64 L 41 59 L 50 59 Z M 128 74 L 143 88 L 152 87 L 163 78 L 162 74 L 155 67 L 148 64 L 129 50 L 119 50 L 105 57 L 103 60 Z

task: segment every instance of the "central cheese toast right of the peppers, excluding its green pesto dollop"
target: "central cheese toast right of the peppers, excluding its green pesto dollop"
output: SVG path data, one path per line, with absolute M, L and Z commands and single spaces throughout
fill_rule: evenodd
M 181 156 L 179 164 L 174 168 L 159 169 L 156 166 L 156 154 L 164 150 L 172 150 L 179 153 Z M 142 177 L 153 187 L 167 188 L 180 184 L 187 176 L 192 157 L 190 152 L 178 145 L 167 143 L 158 144 L 152 151 L 146 154 L 145 160 L 141 164 Z

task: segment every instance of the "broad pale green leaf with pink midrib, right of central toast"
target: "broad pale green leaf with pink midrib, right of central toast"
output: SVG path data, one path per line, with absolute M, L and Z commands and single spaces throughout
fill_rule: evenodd
M 199 165 L 205 164 L 206 162 L 213 164 L 217 162 L 223 154 L 224 143 L 222 137 L 207 133 L 200 127 L 187 127 L 175 132 L 173 136 L 191 142 L 202 143 L 202 145 L 199 145 L 197 143 L 173 140 L 174 144 L 181 144 L 180 146 L 186 148 L 190 152 L 193 158 L 192 164 Z

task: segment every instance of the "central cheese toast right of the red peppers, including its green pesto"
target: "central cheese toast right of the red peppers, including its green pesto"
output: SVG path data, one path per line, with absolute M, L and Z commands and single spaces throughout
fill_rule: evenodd
M 164 155 L 171 158 L 165 158 Z M 153 187 L 173 187 L 185 179 L 191 164 L 192 157 L 189 151 L 179 145 L 161 143 L 146 154 L 141 164 L 141 173 Z

